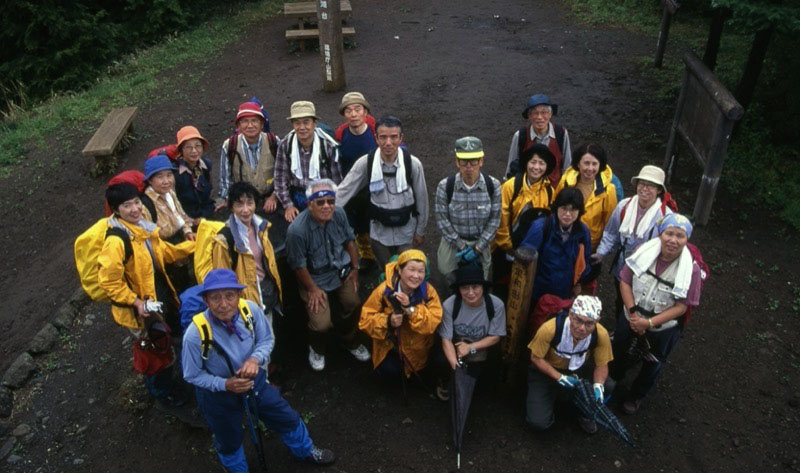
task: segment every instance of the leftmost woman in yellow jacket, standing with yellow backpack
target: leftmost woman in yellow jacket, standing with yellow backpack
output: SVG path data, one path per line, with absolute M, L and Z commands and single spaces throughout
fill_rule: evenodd
M 106 200 L 114 213 L 108 219 L 109 228 L 124 231 L 131 250 L 126 252 L 128 245 L 122 238 L 107 236 L 97 258 L 98 283 L 111 299 L 114 321 L 135 336 L 144 336 L 148 321 L 155 317 L 146 310 L 145 301 L 157 301 L 163 304 L 164 319 L 172 335 L 180 336 L 178 296 L 164 265 L 188 257 L 194 252 L 195 242 L 187 240 L 172 245 L 161 240 L 159 228 L 143 219 L 139 190 L 132 184 L 110 186 Z M 183 405 L 187 396 L 173 389 L 172 366 L 144 378 L 148 392 L 157 400 L 156 405 L 183 420 L 185 416 L 174 409 Z

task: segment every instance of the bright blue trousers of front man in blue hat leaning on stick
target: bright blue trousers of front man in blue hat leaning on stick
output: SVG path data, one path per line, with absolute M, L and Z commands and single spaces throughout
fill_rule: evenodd
M 266 379 L 264 371 L 259 370 L 253 390 L 250 392 L 255 399 L 250 401 L 250 405 L 258 410 L 258 418 L 281 437 L 292 455 L 298 458 L 308 457 L 311 454 L 312 442 L 306 425 L 283 399 L 278 389 L 268 384 Z M 197 406 L 214 434 L 214 448 L 223 465 L 229 471 L 247 471 L 246 463 L 243 470 L 226 463 L 234 461 L 238 464 L 244 461 L 244 455 L 240 450 L 244 438 L 242 416 L 245 394 L 228 391 L 212 392 L 201 388 L 197 388 L 195 392 Z M 234 457 L 237 460 L 233 460 Z

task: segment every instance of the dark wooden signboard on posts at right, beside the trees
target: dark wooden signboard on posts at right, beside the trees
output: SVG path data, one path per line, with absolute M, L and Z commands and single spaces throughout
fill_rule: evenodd
M 733 125 L 742 118 L 744 109 L 693 52 L 684 53 L 683 61 L 686 72 L 667 141 L 664 171 L 669 183 L 677 163 L 676 141 L 682 138 L 703 166 L 692 217 L 696 224 L 705 225 L 711 216 Z

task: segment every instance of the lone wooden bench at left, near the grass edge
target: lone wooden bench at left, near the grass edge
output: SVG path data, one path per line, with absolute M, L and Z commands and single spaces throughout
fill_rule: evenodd
M 120 148 L 120 143 L 127 144 L 123 142 L 123 138 L 133 132 L 133 119 L 136 117 L 138 110 L 137 107 L 111 110 L 89 142 L 86 143 L 82 154 L 84 156 L 94 156 L 93 176 L 114 171 L 117 165 L 118 148 Z

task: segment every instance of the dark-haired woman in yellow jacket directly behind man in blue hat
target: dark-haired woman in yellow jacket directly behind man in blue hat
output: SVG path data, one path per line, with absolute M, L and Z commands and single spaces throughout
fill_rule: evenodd
M 239 284 L 247 286 L 242 289 L 242 298 L 261 304 L 272 324 L 272 312 L 280 310 L 282 302 L 281 278 L 267 234 L 270 224 L 256 215 L 259 196 L 258 190 L 244 181 L 228 190 L 231 216 L 214 239 L 211 262 L 215 269 L 236 273 Z

